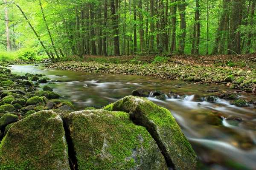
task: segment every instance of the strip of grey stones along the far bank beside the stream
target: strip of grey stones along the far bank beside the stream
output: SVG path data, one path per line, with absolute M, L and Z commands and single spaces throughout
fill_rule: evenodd
M 256 94 L 256 70 L 228 67 L 203 67 L 184 65 L 113 64 L 99 62 L 58 62 L 46 68 L 90 73 L 151 76 L 158 79 L 183 80 L 190 83 L 228 86 L 238 92 Z

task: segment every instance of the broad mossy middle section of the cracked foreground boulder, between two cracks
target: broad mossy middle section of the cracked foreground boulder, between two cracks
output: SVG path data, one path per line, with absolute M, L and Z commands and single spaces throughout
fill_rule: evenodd
M 157 143 L 145 127 L 134 125 L 128 113 L 77 111 L 64 115 L 63 122 L 78 169 L 168 169 Z

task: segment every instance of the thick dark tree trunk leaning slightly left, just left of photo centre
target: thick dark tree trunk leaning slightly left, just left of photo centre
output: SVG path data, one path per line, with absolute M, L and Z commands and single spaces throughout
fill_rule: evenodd
M 111 6 L 111 18 L 113 23 L 113 39 L 114 39 L 114 56 L 120 56 L 120 49 L 119 49 L 119 26 L 115 8 L 114 0 L 110 1 Z

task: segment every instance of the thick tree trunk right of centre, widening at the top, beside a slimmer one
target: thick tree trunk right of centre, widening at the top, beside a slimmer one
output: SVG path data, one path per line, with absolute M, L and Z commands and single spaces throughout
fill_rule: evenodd
M 179 39 L 179 48 L 178 54 L 184 54 L 185 50 L 185 39 L 186 39 L 186 0 L 180 0 L 181 2 L 178 4 L 178 10 L 180 12 L 180 39 Z

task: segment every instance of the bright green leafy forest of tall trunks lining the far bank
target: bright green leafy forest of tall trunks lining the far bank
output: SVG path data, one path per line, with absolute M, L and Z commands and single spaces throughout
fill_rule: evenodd
M 256 0 L 1 0 L 0 51 L 19 57 L 250 54 Z M 7 57 L 8 58 L 8 57 Z

